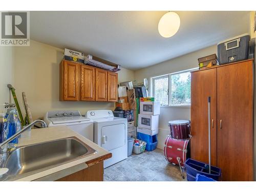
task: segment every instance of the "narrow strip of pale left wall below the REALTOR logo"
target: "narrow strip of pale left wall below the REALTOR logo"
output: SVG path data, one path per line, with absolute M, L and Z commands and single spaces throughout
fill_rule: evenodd
M 0 47 L 0 69 L 0 113 L 3 113 L 3 103 L 11 102 L 12 98 L 7 84 L 13 84 L 13 47 Z

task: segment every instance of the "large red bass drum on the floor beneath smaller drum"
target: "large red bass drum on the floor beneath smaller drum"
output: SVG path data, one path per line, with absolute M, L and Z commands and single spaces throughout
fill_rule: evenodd
M 170 135 L 166 137 L 163 153 L 166 161 L 173 164 L 178 164 L 183 167 L 187 158 L 190 157 L 189 139 L 178 140 Z

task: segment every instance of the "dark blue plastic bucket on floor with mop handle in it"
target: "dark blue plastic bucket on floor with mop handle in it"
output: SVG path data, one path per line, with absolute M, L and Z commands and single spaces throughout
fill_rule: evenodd
M 221 169 L 215 166 L 211 167 L 211 173 L 208 173 L 209 165 L 193 159 L 187 159 L 185 162 L 187 170 L 187 181 L 196 181 L 197 174 L 204 175 L 208 178 L 220 181 Z

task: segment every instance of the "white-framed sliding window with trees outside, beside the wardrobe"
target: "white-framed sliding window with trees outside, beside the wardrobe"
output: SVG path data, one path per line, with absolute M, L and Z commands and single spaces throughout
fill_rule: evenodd
M 151 78 L 152 96 L 161 105 L 190 105 L 190 71 L 167 74 Z

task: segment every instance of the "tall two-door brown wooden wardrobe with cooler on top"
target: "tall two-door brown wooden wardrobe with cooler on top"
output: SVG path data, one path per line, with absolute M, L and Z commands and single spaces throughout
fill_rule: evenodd
M 191 72 L 191 158 L 211 165 L 222 181 L 253 180 L 253 60 Z

